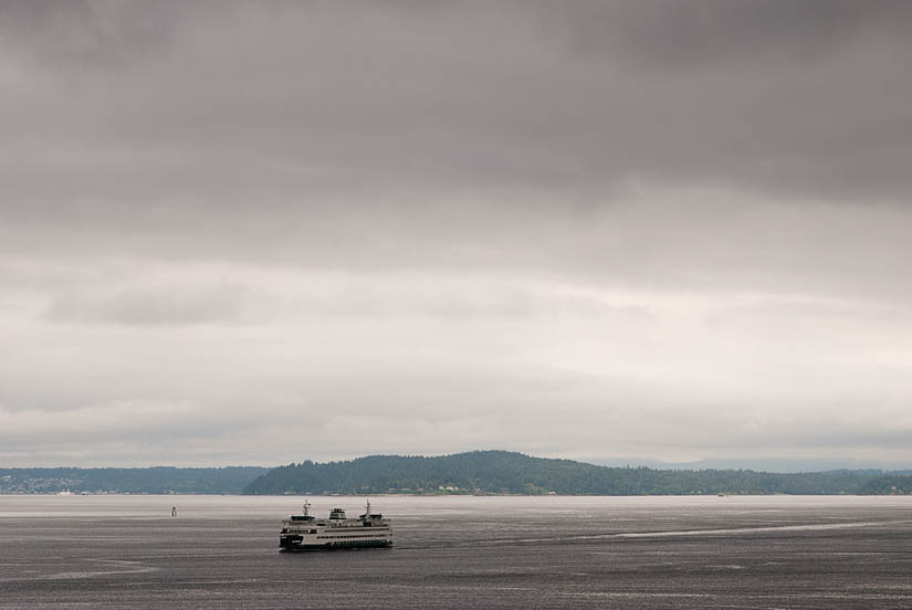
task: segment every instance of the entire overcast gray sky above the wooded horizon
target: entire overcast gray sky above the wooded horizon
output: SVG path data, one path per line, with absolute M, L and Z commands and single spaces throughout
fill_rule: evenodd
M 0 3 L 0 465 L 912 466 L 912 2 Z

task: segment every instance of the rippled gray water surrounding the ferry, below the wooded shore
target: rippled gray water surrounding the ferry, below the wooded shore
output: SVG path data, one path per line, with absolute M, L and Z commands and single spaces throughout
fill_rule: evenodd
M 0 496 L 0 609 L 912 608 L 912 496 L 374 497 L 395 548 L 280 554 L 301 503 Z

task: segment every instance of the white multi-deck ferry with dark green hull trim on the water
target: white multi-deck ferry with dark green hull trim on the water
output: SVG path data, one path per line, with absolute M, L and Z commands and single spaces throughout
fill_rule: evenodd
M 388 547 L 392 545 L 389 519 L 370 513 L 370 502 L 364 515 L 356 519 L 345 517 L 345 511 L 333 508 L 328 519 L 311 515 L 311 505 L 304 504 L 303 515 L 282 519 L 279 548 L 286 550 L 321 550 L 334 548 Z

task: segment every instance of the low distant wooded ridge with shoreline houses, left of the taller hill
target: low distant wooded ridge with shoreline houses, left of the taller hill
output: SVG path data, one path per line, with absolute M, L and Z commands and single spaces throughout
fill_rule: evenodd
M 0 469 L 0 493 L 239 494 L 269 469 Z

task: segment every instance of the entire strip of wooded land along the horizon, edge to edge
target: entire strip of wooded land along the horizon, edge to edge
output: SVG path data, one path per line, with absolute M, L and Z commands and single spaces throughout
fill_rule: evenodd
M 909 494 L 912 472 L 777 474 L 749 470 L 606 467 L 474 451 L 438 458 L 371 455 L 276 469 L 0 469 L 0 493 L 132 494 Z

